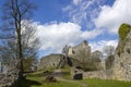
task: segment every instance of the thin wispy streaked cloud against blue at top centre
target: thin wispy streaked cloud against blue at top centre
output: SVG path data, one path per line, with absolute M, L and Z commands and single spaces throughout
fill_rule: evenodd
M 63 12 L 68 12 L 70 21 L 76 24 L 90 24 L 87 17 L 91 15 L 90 7 L 95 0 L 72 0 L 72 4 L 63 8 Z

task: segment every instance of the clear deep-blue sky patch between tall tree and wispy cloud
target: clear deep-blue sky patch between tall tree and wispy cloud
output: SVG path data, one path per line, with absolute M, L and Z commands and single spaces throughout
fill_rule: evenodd
M 68 5 L 71 0 L 38 0 L 35 1 L 38 9 L 35 12 L 34 21 L 49 23 L 51 21 L 66 22 L 62 8 Z

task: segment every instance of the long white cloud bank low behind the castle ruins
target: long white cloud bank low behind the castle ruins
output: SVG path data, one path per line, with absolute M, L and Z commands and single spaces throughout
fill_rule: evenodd
M 37 37 L 41 42 L 39 50 L 46 51 L 46 54 L 59 53 L 63 46 L 76 45 L 82 40 L 92 39 L 99 33 L 96 30 L 83 32 L 81 26 L 71 22 L 51 22 L 44 25 L 37 23 Z

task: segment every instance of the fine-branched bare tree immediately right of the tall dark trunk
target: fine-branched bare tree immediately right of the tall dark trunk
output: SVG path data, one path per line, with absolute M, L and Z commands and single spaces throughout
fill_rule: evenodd
M 32 21 L 23 21 L 22 27 L 23 67 L 24 72 L 31 72 L 37 65 L 37 50 L 40 44 L 36 35 L 37 27 Z

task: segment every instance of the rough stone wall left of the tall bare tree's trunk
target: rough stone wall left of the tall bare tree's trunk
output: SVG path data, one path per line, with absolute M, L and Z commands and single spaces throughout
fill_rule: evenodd
M 5 65 L 5 72 L 0 73 L 0 87 L 17 87 L 20 72 L 17 64 L 19 61 L 13 59 L 9 65 Z

